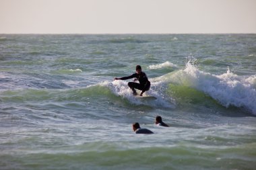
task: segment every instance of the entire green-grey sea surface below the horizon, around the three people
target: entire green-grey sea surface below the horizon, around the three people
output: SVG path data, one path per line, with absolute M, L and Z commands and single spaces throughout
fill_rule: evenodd
M 255 168 L 256 34 L 0 34 L 1 170 Z

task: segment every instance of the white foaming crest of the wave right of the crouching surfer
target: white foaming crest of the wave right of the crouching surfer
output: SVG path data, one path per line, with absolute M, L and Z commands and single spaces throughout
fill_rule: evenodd
M 210 95 L 226 108 L 234 105 L 256 114 L 255 75 L 242 77 L 229 69 L 222 75 L 212 75 L 187 62 L 184 70 L 157 77 L 154 81 L 192 87 Z

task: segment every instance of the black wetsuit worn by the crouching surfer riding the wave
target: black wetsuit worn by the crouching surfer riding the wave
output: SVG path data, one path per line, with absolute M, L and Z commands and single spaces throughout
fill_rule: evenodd
M 139 83 L 135 83 L 135 82 L 128 83 L 128 86 L 133 90 L 133 93 L 136 93 L 135 89 L 139 89 L 143 93 L 150 89 L 150 81 L 148 81 L 148 77 L 146 73 L 141 72 L 140 75 L 137 73 L 134 73 L 133 75 L 130 75 L 127 77 L 121 77 L 121 80 L 127 80 L 132 78 L 137 78 L 139 80 Z

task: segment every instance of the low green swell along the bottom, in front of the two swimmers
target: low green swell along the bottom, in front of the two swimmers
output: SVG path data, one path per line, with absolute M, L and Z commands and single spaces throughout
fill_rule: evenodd
M 0 157 L 3 169 L 34 169 L 35 166 L 37 169 L 84 169 L 85 165 L 88 169 L 255 169 L 255 143 L 224 148 L 200 148 L 182 143 L 137 148 L 133 144 L 125 148 L 127 144 L 129 142 L 90 142 L 41 150 L 17 149 L 1 153 Z

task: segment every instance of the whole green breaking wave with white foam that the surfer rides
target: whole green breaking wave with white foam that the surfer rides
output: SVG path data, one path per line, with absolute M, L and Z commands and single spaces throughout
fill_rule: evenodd
M 81 73 L 67 69 L 63 74 Z M 2 75 L 2 78 L 4 75 Z M 220 103 L 226 108 L 235 106 L 256 114 L 256 75 L 238 76 L 228 70 L 222 75 L 199 71 L 190 62 L 185 69 L 150 79 L 152 86 L 145 95 L 155 100 L 141 99 L 131 93 L 127 81 L 104 81 L 88 87 L 72 89 L 22 89 L 1 91 L 1 101 L 87 101 L 87 98 L 122 100 L 132 105 L 153 108 L 175 108 L 177 102 L 212 105 Z M 65 82 L 64 82 L 65 83 Z M 79 83 L 70 81 L 66 83 Z M 212 100 L 214 99 L 214 100 Z M 216 102 L 217 101 L 217 102 Z

